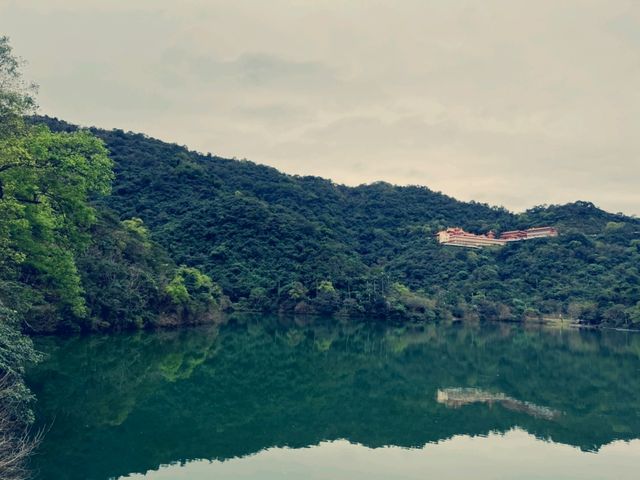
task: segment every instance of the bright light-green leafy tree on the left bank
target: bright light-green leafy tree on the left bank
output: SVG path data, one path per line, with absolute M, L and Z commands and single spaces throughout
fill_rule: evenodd
M 95 222 L 89 196 L 106 194 L 112 162 L 102 141 L 88 132 L 52 133 L 32 127 L 0 172 L 4 246 L 23 275 L 36 274 L 49 302 L 82 317 L 86 310 L 75 256 Z M 2 140 L 0 140 L 0 150 Z

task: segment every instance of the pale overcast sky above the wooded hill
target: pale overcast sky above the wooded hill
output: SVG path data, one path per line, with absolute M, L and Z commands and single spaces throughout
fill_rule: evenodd
M 71 122 L 640 214 L 640 0 L 0 0 L 0 34 Z

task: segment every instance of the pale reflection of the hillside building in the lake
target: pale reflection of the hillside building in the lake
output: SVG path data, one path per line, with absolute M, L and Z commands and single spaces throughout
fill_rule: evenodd
M 499 403 L 504 408 L 514 412 L 522 412 L 536 418 L 553 420 L 560 412 L 548 407 L 541 407 L 530 402 L 523 402 L 511 398 L 504 393 L 492 393 L 479 388 L 444 388 L 438 389 L 436 400 L 447 407 L 459 408 L 471 403 L 487 403 L 493 405 Z

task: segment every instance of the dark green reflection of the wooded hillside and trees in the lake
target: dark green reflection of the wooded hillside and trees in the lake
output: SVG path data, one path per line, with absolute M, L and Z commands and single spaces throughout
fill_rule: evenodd
M 337 438 L 421 447 L 517 425 L 597 449 L 640 436 L 640 336 L 622 332 L 246 317 L 40 348 L 38 415 L 56 420 L 37 461 L 61 480 Z M 446 408 L 442 385 L 502 392 L 505 408 Z

